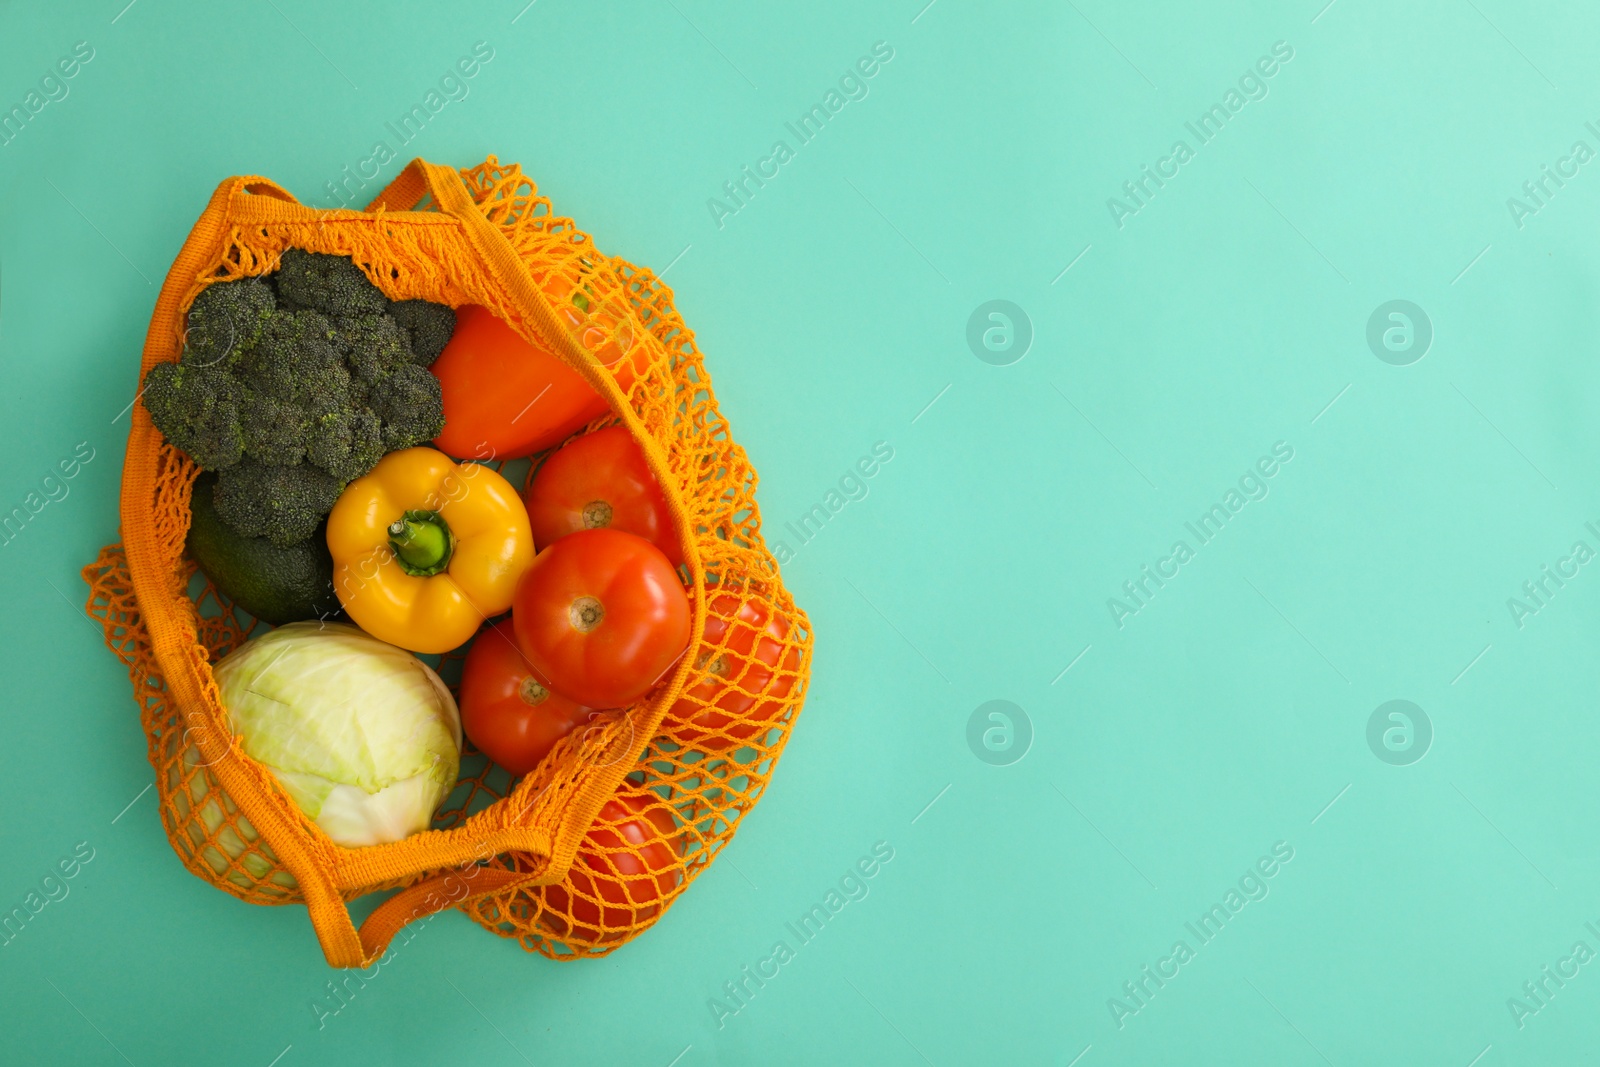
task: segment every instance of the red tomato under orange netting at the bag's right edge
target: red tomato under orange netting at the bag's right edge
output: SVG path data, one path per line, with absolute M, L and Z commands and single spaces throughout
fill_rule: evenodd
M 706 605 L 706 640 L 683 696 L 662 729 L 686 745 L 725 752 L 760 741 L 795 686 L 800 649 L 786 646 L 789 621 L 758 600 L 717 593 Z

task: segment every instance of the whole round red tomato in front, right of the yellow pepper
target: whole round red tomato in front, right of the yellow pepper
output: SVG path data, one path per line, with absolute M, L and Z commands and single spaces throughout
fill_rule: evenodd
M 690 641 L 690 598 L 661 549 L 621 530 L 547 544 L 512 601 L 517 643 L 557 693 L 589 707 L 645 696 Z

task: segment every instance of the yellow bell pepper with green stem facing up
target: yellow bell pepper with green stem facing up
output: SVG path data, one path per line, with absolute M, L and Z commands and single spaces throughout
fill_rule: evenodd
M 373 637 L 414 653 L 459 648 L 510 608 L 533 563 L 517 490 L 432 448 L 389 453 L 328 515 L 333 585 Z

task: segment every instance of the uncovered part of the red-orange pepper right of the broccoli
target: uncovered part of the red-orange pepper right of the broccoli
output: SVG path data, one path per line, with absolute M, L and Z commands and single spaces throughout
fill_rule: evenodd
M 606 413 L 578 371 L 477 304 L 456 309 L 456 333 L 430 370 L 445 397 L 434 445 L 461 459 L 526 456 Z

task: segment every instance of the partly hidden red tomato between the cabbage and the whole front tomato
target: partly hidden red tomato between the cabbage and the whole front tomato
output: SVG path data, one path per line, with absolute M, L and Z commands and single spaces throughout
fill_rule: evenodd
M 509 619 L 478 632 L 461 669 L 461 728 L 483 755 L 528 774 L 555 742 L 595 717 L 528 665 Z

